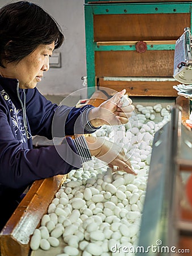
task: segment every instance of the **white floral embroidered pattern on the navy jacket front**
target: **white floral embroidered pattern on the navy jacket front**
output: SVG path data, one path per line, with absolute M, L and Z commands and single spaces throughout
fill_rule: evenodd
M 26 131 L 24 130 L 24 125 L 23 125 L 22 109 L 15 108 L 15 105 L 12 103 L 9 95 L 5 92 L 5 90 L 1 90 L 0 94 L 6 101 L 7 106 L 10 110 L 12 125 L 14 126 L 16 139 L 18 139 L 18 141 L 21 143 L 26 143 L 27 139 L 26 139 Z

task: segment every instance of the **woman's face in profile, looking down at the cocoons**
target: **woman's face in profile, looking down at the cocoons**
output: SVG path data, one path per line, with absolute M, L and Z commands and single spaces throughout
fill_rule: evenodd
M 19 80 L 19 88 L 35 88 L 41 81 L 43 72 L 49 70 L 49 56 L 52 56 L 55 43 L 40 44 L 34 52 L 24 57 L 19 63 L 8 63 L 5 69 L 1 69 L 3 77 Z

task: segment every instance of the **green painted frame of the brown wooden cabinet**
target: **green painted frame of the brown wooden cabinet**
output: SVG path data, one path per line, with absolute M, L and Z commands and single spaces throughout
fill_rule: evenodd
M 134 2 L 134 1 L 106 1 L 85 0 L 85 36 L 86 36 L 86 67 L 88 89 L 95 86 L 95 52 L 97 51 L 133 51 L 135 46 L 129 45 L 97 45 L 94 42 L 94 15 L 97 14 L 172 14 L 190 13 L 191 24 L 192 2 Z M 182 20 L 181 20 L 182 22 Z M 147 46 L 148 51 L 174 50 L 175 44 L 155 44 Z

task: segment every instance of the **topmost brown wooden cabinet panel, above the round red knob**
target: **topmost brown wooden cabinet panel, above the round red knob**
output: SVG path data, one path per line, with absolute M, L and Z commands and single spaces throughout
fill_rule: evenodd
M 94 15 L 94 41 L 176 40 L 183 26 L 189 13 Z

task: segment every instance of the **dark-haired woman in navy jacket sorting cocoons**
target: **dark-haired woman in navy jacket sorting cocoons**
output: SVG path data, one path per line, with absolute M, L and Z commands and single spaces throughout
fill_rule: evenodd
M 83 135 L 66 137 L 57 147 L 32 148 L 32 135 L 54 136 L 93 133 L 103 124 L 126 123 L 130 104 L 119 108 L 123 90 L 98 108 L 58 107 L 36 89 L 49 56 L 64 40 L 59 24 L 40 6 L 19 1 L 0 10 L 0 200 L 4 205 L 1 226 L 18 205 L 20 195 L 37 179 L 67 174 L 94 155 L 130 172 L 124 152 L 110 142 Z

